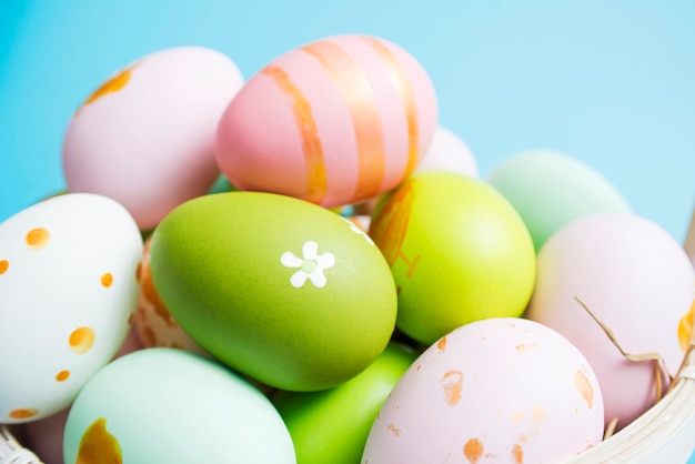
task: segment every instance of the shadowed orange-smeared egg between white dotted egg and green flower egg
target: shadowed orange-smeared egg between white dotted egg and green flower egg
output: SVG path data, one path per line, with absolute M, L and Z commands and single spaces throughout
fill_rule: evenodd
M 144 242 L 140 296 L 138 309 L 133 314 L 133 326 L 138 340 L 144 347 L 168 346 L 209 355 L 181 329 L 157 292 L 150 272 L 151 240 L 150 235 Z

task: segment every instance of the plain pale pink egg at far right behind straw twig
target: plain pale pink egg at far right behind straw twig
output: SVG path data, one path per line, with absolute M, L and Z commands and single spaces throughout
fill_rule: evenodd
M 654 405 L 668 379 L 654 360 L 623 356 L 600 323 L 626 353 L 657 353 L 675 374 L 691 340 L 693 285 L 684 250 L 659 225 L 634 213 L 594 213 L 538 252 L 526 316 L 582 351 L 601 382 L 606 423 L 617 418 L 620 430 Z

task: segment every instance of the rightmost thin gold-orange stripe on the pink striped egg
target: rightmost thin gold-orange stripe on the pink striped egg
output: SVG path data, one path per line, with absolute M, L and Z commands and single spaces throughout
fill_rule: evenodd
M 403 102 L 403 109 L 405 110 L 405 120 L 407 123 L 407 164 L 405 167 L 405 175 L 409 176 L 417 167 L 419 161 L 419 144 L 420 144 L 420 130 L 417 129 L 417 105 L 415 104 L 415 93 L 411 85 L 407 74 L 393 56 L 391 50 L 382 43 L 380 40 L 372 37 L 362 38 L 369 43 L 374 51 L 381 57 L 389 70 L 391 80 L 396 88 L 396 91 L 401 95 Z

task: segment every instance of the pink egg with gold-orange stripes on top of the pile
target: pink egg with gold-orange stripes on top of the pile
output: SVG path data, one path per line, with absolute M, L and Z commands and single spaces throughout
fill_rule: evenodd
M 222 114 L 215 157 L 240 190 L 332 208 L 395 188 L 436 127 L 434 87 L 412 54 L 381 38 L 336 36 L 253 75 Z

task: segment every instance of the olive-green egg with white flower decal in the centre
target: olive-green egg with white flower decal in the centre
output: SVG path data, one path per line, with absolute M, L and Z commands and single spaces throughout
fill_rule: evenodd
M 372 240 L 339 214 L 281 194 L 225 192 L 179 205 L 152 235 L 150 272 L 191 339 L 282 390 L 352 379 L 395 325 L 395 283 Z

